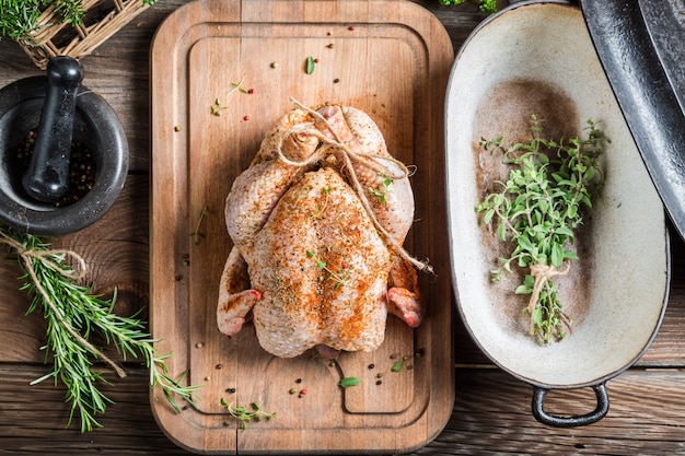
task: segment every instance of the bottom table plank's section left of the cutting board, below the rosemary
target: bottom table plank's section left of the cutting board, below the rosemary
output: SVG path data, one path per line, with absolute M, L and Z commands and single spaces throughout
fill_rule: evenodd
M 127 366 L 128 377 L 107 378 L 114 386 L 103 391 L 116 404 L 98 417 L 103 430 L 82 434 L 77 417 L 70 428 L 63 388 L 49 381 L 31 386 L 46 367 L 30 363 L 0 363 L 3 388 L 0 400 L 0 453 L 3 455 L 188 455 L 159 429 L 148 400 L 144 369 Z

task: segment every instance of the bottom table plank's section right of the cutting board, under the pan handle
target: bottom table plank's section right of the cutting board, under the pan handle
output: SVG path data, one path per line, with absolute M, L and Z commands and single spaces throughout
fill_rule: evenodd
M 678 370 L 630 370 L 607 383 L 609 412 L 596 424 L 554 429 L 530 413 L 532 388 L 498 370 L 458 370 L 443 434 L 418 454 L 682 454 L 685 399 Z M 589 400 L 588 398 L 591 398 Z M 548 411 L 587 412 L 592 390 L 555 391 Z

